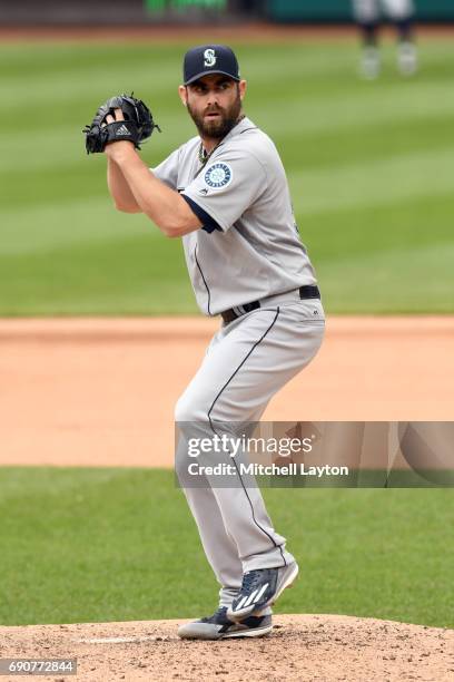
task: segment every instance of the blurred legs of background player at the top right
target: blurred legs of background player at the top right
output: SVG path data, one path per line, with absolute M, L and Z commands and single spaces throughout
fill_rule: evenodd
M 362 75 L 367 79 L 379 75 L 378 30 L 383 12 L 397 31 L 397 68 L 403 76 L 413 76 L 417 70 L 413 0 L 353 0 L 353 11 L 363 36 Z

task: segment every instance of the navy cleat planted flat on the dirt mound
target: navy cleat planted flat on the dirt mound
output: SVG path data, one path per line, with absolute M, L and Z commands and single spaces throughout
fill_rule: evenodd
M 263 637 L 273 630 L 272 610 L 259 616 L 249 616 L 236 623 L 227 617 L 227 606 L 213 616 L 186 623 L 178 629 L 181 640 L 227 640 L 233 637 Z

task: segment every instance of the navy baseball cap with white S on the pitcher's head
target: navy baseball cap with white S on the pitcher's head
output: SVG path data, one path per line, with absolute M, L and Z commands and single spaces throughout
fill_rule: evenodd
M 240 80 L 234 50 L 226 45 L 199 45 L 188 50 L 182 65 L 184 84 L 189 85 L 208 74 L 224 74 Z

